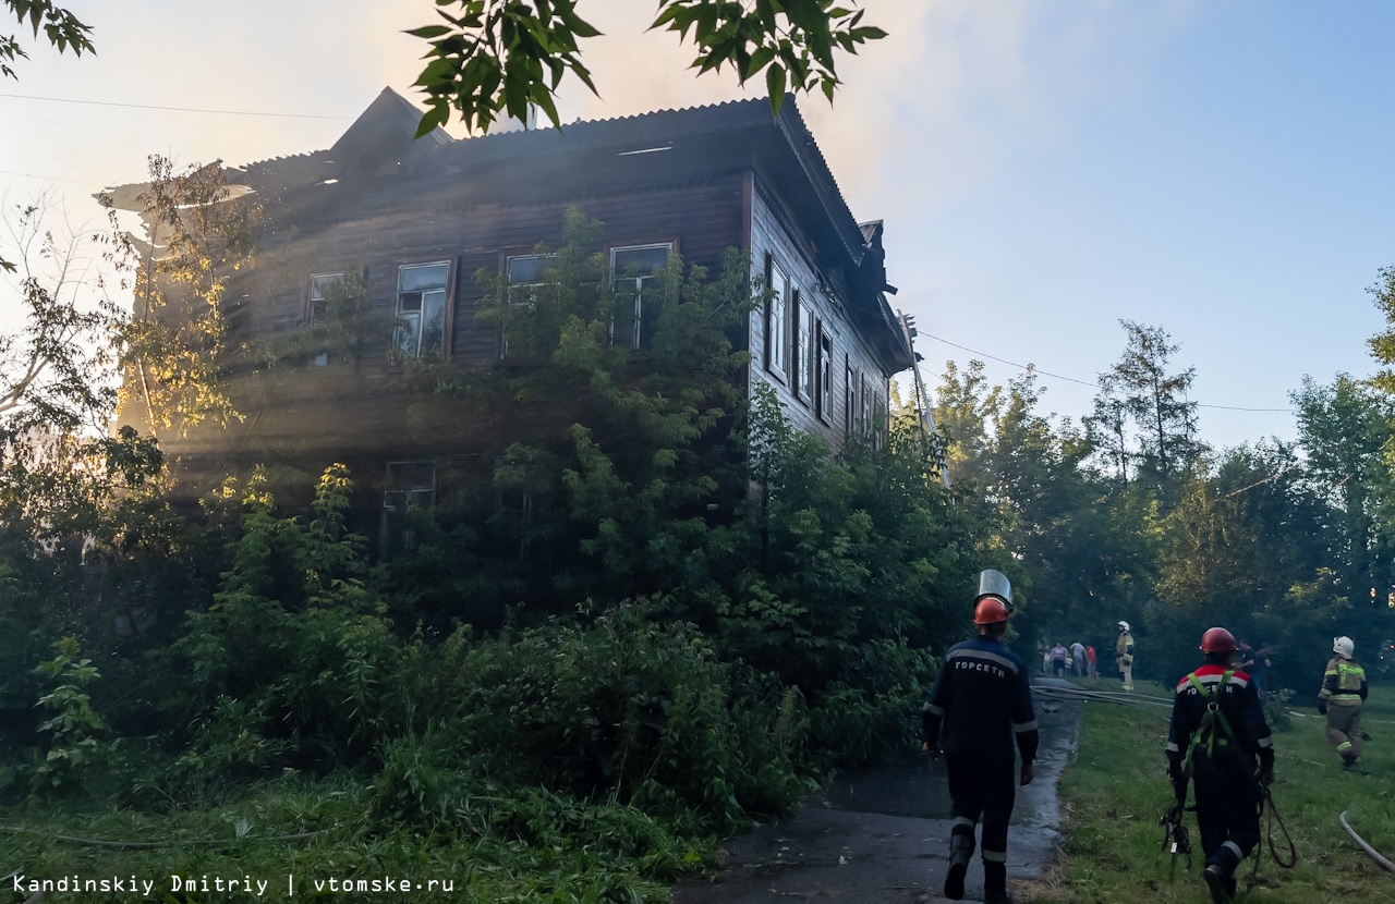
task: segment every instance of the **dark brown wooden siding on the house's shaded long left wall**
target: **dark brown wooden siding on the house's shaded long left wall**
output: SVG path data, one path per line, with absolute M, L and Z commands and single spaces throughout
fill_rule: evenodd
M 339 187 L 349 188 L 343 183 Z M 608 246 L 674 241 L 686 264 L 714 271 L 723 251 L 744 240 L 741 173 L 571 201 L 378 211 L 315 223 L 276 223 L 258 269 L 236 282 L 236 292 L 248 299 L 252 310 L 244 338 L 285 333 L 303 322 L 311 273 L 364 272 L 374 310 L 392 317 L 399 266 L 451 261 L 451 360 L 494 366 L 498 332 L 476 322 L 484 287 L 476 283 L 474 273 L 480 268 L 497 272 L 504 250 L 559 244 L 564 213 L 572 204 L 604 223 Z M 317 459 L 329 463 L 372 451 L 382 460 L 469 455 L 494 445 L 508 430 L 508 412 L 483 409 L 449 424 L 409 423 L 410 399 L 391 385 L 400 368 L 388 359 L 388 339 L 371 343 L 353 364 L 294 368 L 275 386 L 264 378 L 234 381 L 234 400 L 246 420 L 226 428 L 201 427 L 184 438 L 162 438 L 163 446 L 186 460 L 265 456 L 312 466 Z

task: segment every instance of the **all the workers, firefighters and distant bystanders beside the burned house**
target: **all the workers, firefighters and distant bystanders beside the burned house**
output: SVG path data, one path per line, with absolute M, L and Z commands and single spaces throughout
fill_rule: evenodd
M 951 801 L 950 858 L 944 897 L 961 900 L 982 823 L 983 901 L 1011 901 L 1007 890 L 1007 823 L 1016 787 L 1032 781 L 1039 734 L 1027 664 L 1004 643 L 1011 614 L 1011 586 L 1004 575 L 979 575 L 974 598 L 978 636 L 944 654 L 935 688 L 922 711 L 923 749 L 944 755 Z M 1124 691 L 1133 691 L 1133 633 L 1117 622 L 1116 664 Z M 1067 660 L 1085 660 L 1087 647 L 1056 643 L 1049 656 L 1062 672 Z M 1057 651 L 1060 656 L 1057 656 Z M 1350 638 L 1334 638 L 1332 658 L 1322 675 L 1318 711 L 1327 735 L 1355 769 L 1360 758 L 1362 703 L 1366 672 L 1353 658 Z M 1256 651 L 1225 628 L 1201 635 L 1201 665 L 1177 682 L 1168 730 L 1168 780 L 1179 802 L 1190 783 L 1196 795 L 1197 831 L 1205 852 L 1204 879 L 1215 904 L 1236 894 L 1236 869 L 1260 843 L 1260 811 L 1274 781 L 1274 741 L 1264 717 L 1261 677 L 1268 650 Z M 1253 671 L 1246 671 L 1253 670 Z M 1080 674 L 1077 671 L 1077 674 Z M 1018 766 L 1020 758 L 1020 766 Z

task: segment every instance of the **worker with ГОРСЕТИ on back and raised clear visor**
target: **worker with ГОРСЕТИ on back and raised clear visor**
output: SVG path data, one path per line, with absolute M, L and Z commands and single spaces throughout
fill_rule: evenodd
M 944 897 L 964 897 L 964 876 L 974 857 L 974 829 L 982 818 L 983 901 L 1006 904 L 1007 822 L 1017 784 L 1031 784 L 1039 741 L 1027 664 L 1003 645 L 1011 586 L 1002 572 L 979 575 L 974 603 L 978 636 L 944 654 L 930 699 L 921 710 L 925 751 L 943 751 L 949 773 L 950 865 Z M 1023 758 L 1018 770 L 1016 753 Z

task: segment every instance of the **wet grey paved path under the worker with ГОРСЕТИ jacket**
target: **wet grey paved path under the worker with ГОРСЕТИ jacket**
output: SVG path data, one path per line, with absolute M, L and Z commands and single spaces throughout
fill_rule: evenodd
M 1050 682 L 1052 679 L 1042 679 Z M 1039 877 L 1056 852 L 1056 780 L 1076 749 L 1080 702 L 1038 696 L 1036 778 L 1017 790 L 1007 841 L 1009 884 Z M 903 904 L 936 900 L 949 858 L 943 760 L 914 758 L 840 778 L 792 818 L 732 838 L 718 875 L 674 889 L 674 904 Z M 967 900 L 982 900 L 975 858 Z

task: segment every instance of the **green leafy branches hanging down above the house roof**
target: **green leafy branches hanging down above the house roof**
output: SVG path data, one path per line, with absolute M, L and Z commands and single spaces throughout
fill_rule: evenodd
M 598 93 L 582 63 L 578 39 L 600 32 L 576 11 L 576 0 L 441 0 L 445 24 L 409 33 L 431 43 L 417 86 L 427 95 L 418 137 L 449 121 L 452 109 L 467 128 L 488 131 L 501 116 L 526 120 L 541 109 L 561 126 L 554 96 L 571 73 Z M 862 25 L 862 10 L 848 0 L 660 0 L 650 28 L 692 33 L 699 73 L 731 66 L 741 84 L 764 73 L 770 107 L 780 112 L 785 89 L 820 88 L 833 99 L 838 86 L 836 52 L 886 32 Z

